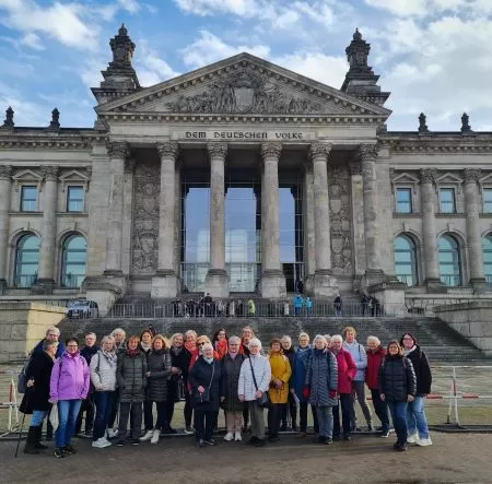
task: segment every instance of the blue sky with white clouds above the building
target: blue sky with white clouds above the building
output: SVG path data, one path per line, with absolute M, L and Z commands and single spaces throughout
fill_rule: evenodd
M 355 27 L 391 92 L 388 130 L 492 131 L 492 0 L 0 0 L 0 116 L 16 126 L 92 127 L 125 23 L 150 86 L 248 51 L 340 88 Z M 3 119 L 0 118 L 0 122 Z

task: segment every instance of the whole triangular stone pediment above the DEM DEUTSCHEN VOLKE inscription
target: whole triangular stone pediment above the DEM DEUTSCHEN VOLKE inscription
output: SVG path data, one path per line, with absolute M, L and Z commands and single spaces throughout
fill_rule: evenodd
M 288 69 L 239 54 L 101 105 L 112 114 L 339 116 L 375 118 L 390 110 Z

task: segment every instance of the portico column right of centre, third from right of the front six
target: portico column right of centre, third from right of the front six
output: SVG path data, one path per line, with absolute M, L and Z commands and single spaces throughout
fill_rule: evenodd
M 261 144 L 261 296 L 286 295 L 285 276 L 280 264 L 279 158 L 281 143 Z

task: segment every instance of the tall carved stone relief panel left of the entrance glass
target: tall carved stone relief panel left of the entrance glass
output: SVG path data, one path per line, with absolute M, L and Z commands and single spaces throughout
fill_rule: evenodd
M 152 275 L 157 269 L 160 166 L 141 161 L 133 175 L 131 272 Z

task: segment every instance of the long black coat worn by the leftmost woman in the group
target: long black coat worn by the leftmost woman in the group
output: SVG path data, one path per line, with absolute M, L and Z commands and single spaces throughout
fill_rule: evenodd
M 34 410 L 48 411 L 49 379 L 55 361 L 46 352 L 34 352 L 26 368 L 26 381 L 34 378 L 34 387 L 26 389 L 20 406 L 22 413 L 31 414 Z

